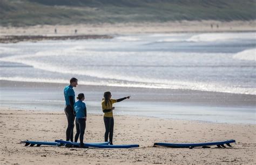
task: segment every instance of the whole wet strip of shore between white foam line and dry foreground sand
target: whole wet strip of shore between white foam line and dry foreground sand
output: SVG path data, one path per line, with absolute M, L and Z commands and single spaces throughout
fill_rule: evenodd
M 4 96 L 1 98 L 2 107 L 35 112 L 62 112 L 64 109 L 63 88 L 66 84 L 3 80 L 0 84 L 0 92 Z M 201 123 L 255 124 L 255 95 L 93 85 L 78 85 L 75 89 L 76 94 L 85 94 L 88 113 L 91 114 L 101 114 L 100 103 L 104 91 L 111 91 L 113 98 L 132 96 L 132 99 L 116 105 L 115 114 L 121 116 Z M 15 96 L 12 95 L 14 92 Z

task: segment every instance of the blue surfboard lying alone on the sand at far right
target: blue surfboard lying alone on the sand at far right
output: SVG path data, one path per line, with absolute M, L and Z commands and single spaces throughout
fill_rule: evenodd
M 154 146 L 164 146 L 164 147 L 173 147 L 173 148 L 193 148 L 193 147 L 204 147 L 204 146 L 218 146 L 218 147 L 224 147 L 224 144 L 226 144 L 229 147 L 232 147 L 230 144 L 235 143 L 235 140 L 226 140 L 226 141 L 215 141 L 215 142 L 203 142 L 203 143 L 197 143 L 197 144 L 172 144 L 172 143 L 166 143 L 166 142 L 156 142 L 154 143 Z

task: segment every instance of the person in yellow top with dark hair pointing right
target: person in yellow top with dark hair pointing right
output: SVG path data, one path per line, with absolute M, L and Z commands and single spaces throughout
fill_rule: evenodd
M 130 98 L 131 96 L 127 96 L 119 99 L 111 99 L 111 92 L 106 91 L 104 93 L 104 98 L 102 101 L 102 110 L 104 112 L 104 124 L 105 124 L 105 141 L 109 138 L 110 145 L 113 145 L 113 130 L 114 130 L 114 118 L 113 118 L 113 104 L 117 102 L 121 102 L 126 98 Z

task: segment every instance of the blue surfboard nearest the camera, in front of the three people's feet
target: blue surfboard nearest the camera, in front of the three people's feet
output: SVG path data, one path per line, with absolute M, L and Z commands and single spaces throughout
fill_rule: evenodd
M 64 140 L 55 140 L 55 142 L 59 142 L 60 144 L 68 144 L 73 146 L 79 146 L 78 142 L 70 142 Z M 93 148 L 133 148 L 139 147 L 139 145 L 102 145 L 102 144 L 84 144 L 85 147 L 93 147 Z

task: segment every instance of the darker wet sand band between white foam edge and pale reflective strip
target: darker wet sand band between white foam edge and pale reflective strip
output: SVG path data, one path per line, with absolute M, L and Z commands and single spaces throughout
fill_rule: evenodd
M 68 81 L 67 81 L 68 82 Z M 79 83 L 79 82 L 78 82 Z M 63 83 L 42 82 L 17 82 L 0 80 L 1 91 L 15 92 L 22 90 L 45 91 L 50 95 L 58 95 L 63 100 Z M 229 94 L 224 92 L 210 92 L 183 89 L 153 89 L 153 88 L 129 88 L 98 85 L 80 85 L 75 88 L 76 94 L 84 92 L 86 101 L 101 101 L 104 91 L 111 91 L 114 97 L 131 95 L 136 102 L 171 102 L 176 104 L 203 105 L 203 106 L 256 106 L 256 95 Z M 39 92 L 40 94 L 40 92 Z M 39 95 L 38 94 L 38 95 Z M 27 96 L 35 97 L 35 96 Z

